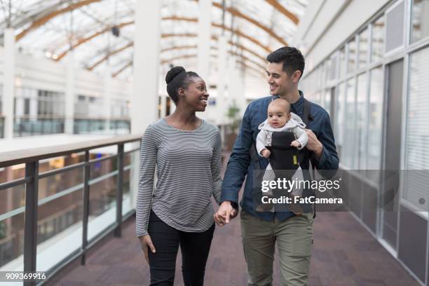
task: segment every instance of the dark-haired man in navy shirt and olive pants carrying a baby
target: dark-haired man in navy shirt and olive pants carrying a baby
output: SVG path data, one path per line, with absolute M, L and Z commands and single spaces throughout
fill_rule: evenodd
M 307 285 L 313 241 L 313 213 L 295 215 L 293 212 L 254 210 L 254 170 L 265 169 L 268 160 L 251 160 L 250 151 L 254 148 L 252 144 L 259 132 L 258 125 L 266 119 L 267 107 L 273 96 L 290 102 L 291 111 L 306 122 L 303 118 L 304 94 L 298 90 L 299 79 L 304 71 L 303 55 L 297 48 L 282 47 L 269 54 L 266 60 L 271 96 L 254 100 L 245 111 L 222 184 L 222 204 L 214 217 L 221 226 L 235 217 L 233 210 L 238 203 L 238 192 L 247 175 L 243 199 L 240 202 L 240 225 L 247 261 L 248 285 L 272 285 L 275 243 L 280 254 L 281 284 Z M 311 121 L 306 129 L 308 151 L 304 153 L 301 168 L 310 174 L 308 169 L 312 164 L 319 170 L 320 175 L 332 177 L 332 171 L 329 170 L 337 170 L 339 160 L 329 115 L 325 109 L 313 103 L 310 103 L 309 112 L 311 116 L 308 118 L 311 118 Z

